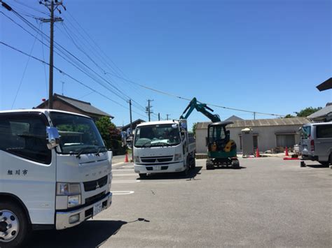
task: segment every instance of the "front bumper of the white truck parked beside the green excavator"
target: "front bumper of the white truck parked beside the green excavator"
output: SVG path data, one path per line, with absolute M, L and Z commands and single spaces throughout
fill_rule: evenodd
M 154 170 L 156 166 L 160 166 L 160 170 Z M 176 173 L 184 171 L 184 161 L 175 163 L 158 163 L 158 164 L 136 164 L 134 163 L 135 173 Z

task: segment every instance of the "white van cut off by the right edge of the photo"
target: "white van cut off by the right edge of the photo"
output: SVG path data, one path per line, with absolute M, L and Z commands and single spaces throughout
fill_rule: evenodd
M 319 161 L 324 166 L 332 163 L 332 122 L 302 126 L 302 158 Z

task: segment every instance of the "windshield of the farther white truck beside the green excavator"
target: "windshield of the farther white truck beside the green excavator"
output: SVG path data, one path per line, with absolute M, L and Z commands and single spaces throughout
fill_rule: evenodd
M 135 147 L 162 147 L 179 143 L 180 131 L 177 124 L 138 126 L 135 132 Z

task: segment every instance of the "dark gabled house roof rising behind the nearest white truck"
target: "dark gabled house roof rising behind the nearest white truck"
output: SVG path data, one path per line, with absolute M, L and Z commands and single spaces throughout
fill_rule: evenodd
M 36 108 L 48 108 L 48 100 L 44 101 Z M 93 120 L 97 120 L 103 116 L 109 117 L 111 119 L 114 118 L 112 115 L 109 115 L 108 113 L 92 106 L 91 103 L 72 99 L 68 96 L 62 96 L 59 94 L 53 95 L 53 109 L 76 112 L 81 115 L 88 115 Z

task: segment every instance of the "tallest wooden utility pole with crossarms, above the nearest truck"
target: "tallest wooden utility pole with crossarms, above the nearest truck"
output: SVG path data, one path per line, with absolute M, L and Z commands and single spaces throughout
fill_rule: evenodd
M 58 0 L 44 0 L 39 1 L 39 4 L 43 4 L 50 10 L 50 19 L 41 19 L 42 22 L 50 22 L 50 75 L 49 75 L 49 87 L 48 87 L 48 108 L 53 108 L 53 40 L 54 40 L 54 22 L 62 22 L 61 17 L 54 17 L 54 10 L 58 10 L 61 14 L 61 10 L 58 8 L 62 6 L 64 10 L 66 8 L 63 6 L 62 1 Z

